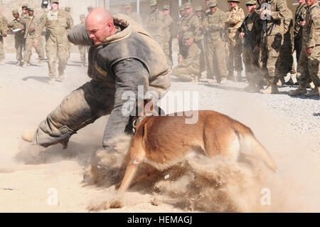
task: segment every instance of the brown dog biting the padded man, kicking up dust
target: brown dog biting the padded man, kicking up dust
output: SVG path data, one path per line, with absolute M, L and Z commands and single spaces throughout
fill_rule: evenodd
M 193 148 L 201 148 L 207 157 L 221 155 L 237 160 L 240 137 L 252 154 L 260 157 L 273 171 L 277 170 L 267 149 L 255 138 L 250 128 L 240 122 L 210 110 L 198 111 L 198 122 L 193 125 L 185 123 L 186 116 L 190 114 L 178 116 L 149 116 L 137 125 L 119 193 L 127 190 L 142 162 L 162 171 L 181 162 Z

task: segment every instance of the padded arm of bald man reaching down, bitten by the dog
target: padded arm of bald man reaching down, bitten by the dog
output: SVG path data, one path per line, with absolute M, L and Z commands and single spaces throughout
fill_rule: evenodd
M 127 109 L 122 110 L 122 107 L 125 102 L 132 102 L 132 106 L 135 107 L 139 85 L 143 86 L 146 93 L 149 87 L 149 71 L 141 61 L 134 58 L 121 60 L 112 67 L 112 70 L 115 75 L 114 108 L 105 127 L 102 144 L 107 151 L 116 152 L 116 139 L 124 135 L 130 120 L 130 112 Z M 129 101 L 126 100 L 127 95 L 134 95 L 134 97 Z

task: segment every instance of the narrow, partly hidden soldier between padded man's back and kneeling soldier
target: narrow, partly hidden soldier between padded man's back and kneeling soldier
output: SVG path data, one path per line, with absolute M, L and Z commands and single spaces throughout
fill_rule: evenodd
M 164 21 L 162 22 L 162 26 L 164 27 L 164 54 L 166 55 L 166 60 L 168 61 L 168 65 L 170 68 L 172 67 L 172 56 L 171 53 L 171 24 L 174 22 L 170 16 L 170 6 L 164 5 L 163 8 L 164 13 Z

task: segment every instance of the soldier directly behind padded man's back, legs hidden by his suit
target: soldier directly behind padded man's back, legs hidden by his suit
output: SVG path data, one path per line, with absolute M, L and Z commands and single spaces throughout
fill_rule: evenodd
M 149 1 L 151 13 L 146 19 L 146 29 L 157 43 L 164 48 L 164 31 L 162 27 L 162 21 L 164 21 L 164 14 L 157 9 L 156 0 Z

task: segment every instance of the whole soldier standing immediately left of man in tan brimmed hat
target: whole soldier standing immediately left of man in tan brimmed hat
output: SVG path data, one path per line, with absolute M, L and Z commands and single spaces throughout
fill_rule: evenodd
M 225 65 L 224 33 L 225 13 L 217 6 L 216 0 L 208 3 L 210 13 L 203 19 L 202 26 L 206 32 L 207 78 L 209 83 L 225 84 L 228 70 Z M 215 80 L 213 80 L 215 78 Z

